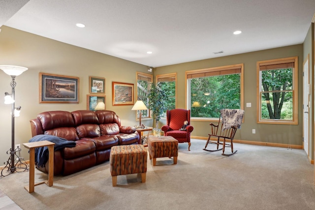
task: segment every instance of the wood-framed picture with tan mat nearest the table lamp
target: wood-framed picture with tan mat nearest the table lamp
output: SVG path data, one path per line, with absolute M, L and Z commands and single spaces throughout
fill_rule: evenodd
M 133 105 L 133 84 L 112 82 L 113 106 Z

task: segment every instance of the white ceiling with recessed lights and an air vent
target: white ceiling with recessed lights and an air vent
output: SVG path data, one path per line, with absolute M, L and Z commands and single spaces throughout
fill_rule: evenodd
M 1 0 L 0 8 L 0 26 L 158 67 L 301 44 L 315 0 Z

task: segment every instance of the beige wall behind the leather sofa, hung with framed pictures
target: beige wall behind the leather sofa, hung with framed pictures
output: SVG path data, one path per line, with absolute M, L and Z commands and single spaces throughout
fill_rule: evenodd
M 148 67 L 95 51 L 86 50 L 52 39 L 37 36 L 5 26 L 0 32 L 0 65 L 21 65 L 29 70 L 16 77 L 16 107 L 22 106 L 21 116 L 15 118 L 15 142 L 28 142 L 31 136 L 29 120 L 43 111 L 85 110 L 89 94 L 89 76 L 105 78 L 106 109 L 115 111 L 122 125 L 135 124 L 132 105 L 112 106 L 112 81 L 136 84 L 136 71 L 148 73 Z M 79 77 L 79 103 L 39 103 L 39 72 Z M 0 95 L 11 93 L 11 77 L 0 71 Z M 135 89 L 134 89 L 135 90 Z M 2 97 L 0 97 L 2 98 Z M 2 100 L 2 99 L 1 99 Z M 11 148 L 11 105 L 0 103 L 0 166 Z M 151 121 L 146 121 L 148 125 Z M 22 146 L 22 156 L 29 159 Z

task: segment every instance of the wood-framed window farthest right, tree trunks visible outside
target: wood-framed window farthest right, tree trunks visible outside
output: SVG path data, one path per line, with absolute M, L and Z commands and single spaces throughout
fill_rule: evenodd
M 297 57 L 257 62 L 257 122 L 297 124 Z

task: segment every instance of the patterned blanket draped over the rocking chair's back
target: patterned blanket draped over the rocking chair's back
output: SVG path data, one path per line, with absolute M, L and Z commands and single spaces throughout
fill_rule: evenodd
M 221 109 L 222 130 L 237 126 L 241 128 L 244 110 L 241 109 Z

